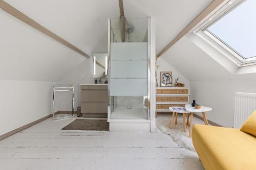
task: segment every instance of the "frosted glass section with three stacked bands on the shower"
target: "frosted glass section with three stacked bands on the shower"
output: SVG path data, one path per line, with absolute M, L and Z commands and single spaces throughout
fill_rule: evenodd
M 110 95 L 147 95 L 147 65 L 147 42 L 112 42 Z

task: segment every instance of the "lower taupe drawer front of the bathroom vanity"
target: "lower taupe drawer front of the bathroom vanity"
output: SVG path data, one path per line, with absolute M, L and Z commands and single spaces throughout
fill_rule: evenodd
M 108 102 L 82 102 L 81 113 L 108 113 Z

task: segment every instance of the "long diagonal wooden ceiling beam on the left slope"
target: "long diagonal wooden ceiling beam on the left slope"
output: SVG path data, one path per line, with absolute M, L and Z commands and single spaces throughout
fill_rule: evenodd
M 27 23 L 29 26 L 35 28 L 36 30 L 38 30 L 38 31 L 48 35 L 49 37 L 55 39 L 56 41 L 62 43 L 63 45 L 66 45 L 67 47 L 71 48 L 72 50 L 74 50 L 75 52 L 79 53 L 80 55 L 82 55 L 82 56 L 84 56 L 86 58 L 90 58 L 89 55 L 87 55 L 86 53 L 82 52 L 77 47 L 75 47 L 74 45 L 72 45 L 71 43 L 66 41 L 65 39 L 59 37 L 58 35 L 54 34 L 50 30 L 48 30 L 47 28 L 41 26 L 35 20 L 31 19 L 27 15 L 25 15 L 22 12 L 18 11 L 17 9 L 12 7 L 11 5 L 9 5 L 6 2 L 4 2 L 3 0 L 0 0 L 0 8 L 3 9 L 4 11 L 6 11 L 7 13 L 11 14 L 12 16 L 18 18 L 19 20 L 22 20 L 23 22 Z

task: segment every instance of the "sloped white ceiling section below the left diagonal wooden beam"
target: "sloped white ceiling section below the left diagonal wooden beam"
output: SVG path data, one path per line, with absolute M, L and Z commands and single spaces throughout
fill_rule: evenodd
M 86 58 L 0 10 L 0 80 L 57 81 Z

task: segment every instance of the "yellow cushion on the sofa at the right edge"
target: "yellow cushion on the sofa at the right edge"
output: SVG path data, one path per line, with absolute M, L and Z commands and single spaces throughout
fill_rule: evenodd
M 240 130 L 256 136 L 256 110 L 247 118 Z

